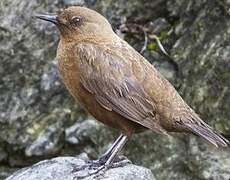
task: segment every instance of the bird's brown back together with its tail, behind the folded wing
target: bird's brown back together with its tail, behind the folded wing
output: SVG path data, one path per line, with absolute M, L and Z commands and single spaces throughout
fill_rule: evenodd
M 181 98 L 171 83 L 153 65 L 121 40 L 123 51 L 129 53 L 132 71 L 154 102 L 161 126 L 167 131 L 190 132 L 215 146 L 228 146 L 229 141 L 212 130 Z M 126 56 L 127 57 L 127 56 Z

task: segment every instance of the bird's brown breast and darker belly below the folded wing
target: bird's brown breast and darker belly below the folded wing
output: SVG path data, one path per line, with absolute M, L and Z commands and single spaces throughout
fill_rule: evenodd
M 145 130 L 143 126 L 98 104 L 94 94 L 82 86 L 80 60 L 77 54 L 73 56 L 71 53 L 72 51 L 68 52 L 60 48 L 57 53 L 59 73 L 71 95 L 97 120 L 110 127 L 120 129 L 128 135 Z

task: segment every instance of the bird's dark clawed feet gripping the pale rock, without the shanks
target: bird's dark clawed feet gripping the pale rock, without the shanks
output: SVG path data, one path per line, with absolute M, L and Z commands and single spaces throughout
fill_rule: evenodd
M 116 157 L 111 164 L 106 164 L 106 161 L 103 162 L 103 160 L 103 158 L 98 160 L 87 160 L 85 165 L 74 168 L 72 172 L 74 173 L 75 178 L 83 179 L 91 176 L 96 179 L 103 176 L 108 169 L 124 167 L 131 163 L 131 161 L 124 156 Z

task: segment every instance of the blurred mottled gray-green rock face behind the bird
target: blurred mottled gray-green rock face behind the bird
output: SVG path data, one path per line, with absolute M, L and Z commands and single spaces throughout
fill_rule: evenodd
M 57 29 L 32 17 L 76 4 L 105 15 L 206 122 L 230 137 L 229 1 L 1 0 L 0 179 L 54 156 L 96 158 L 119 133 L 70 97 L 56 68 Z M 173 60 L 162 56 L 153 34 Z M 230 178 L 230 150 L 187 134 L 135 135 L 124 154 L 157 180 Z

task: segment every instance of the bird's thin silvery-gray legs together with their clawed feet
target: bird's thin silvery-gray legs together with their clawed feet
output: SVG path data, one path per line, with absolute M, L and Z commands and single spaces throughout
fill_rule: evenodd
M 116 158 L 116 155 L 118 154 L 118 152 L 122 149 L 122 147 L 124 146 L 124 144 L 126 143 L 126 141 L 128 140 L 128 136 L 126 135 L 120 135 L 118 137 L 118 139 L 113 143 L 113 145 L 111 146 L 111 148 L 109 148 L 106 153 L 104 153 L 101 158 L 99 158 L 98 160 L 94 160 L 94 161 L 89 161 L 87 165 L 85 165 L 83 168 L 76 168 L 74 171 L 80 171 L 83 169 L 88 169 L 88 170 L 92 170 L 91 172 L 89 171 L 86 175 L 81 175 L 78 176 L 78 178 L 84 178 L 87 176 L 91 176 L 91 175 L 95 175 L 98 174 L 100 171 L 105 171 L 107 168 L 109 167 L 118 167 L 121 165 L 124 165 L 126 163 L 128 163 L 129 161 L 122 161 L 121 163 L 116 162 L 113 165 L 113 161 Z

